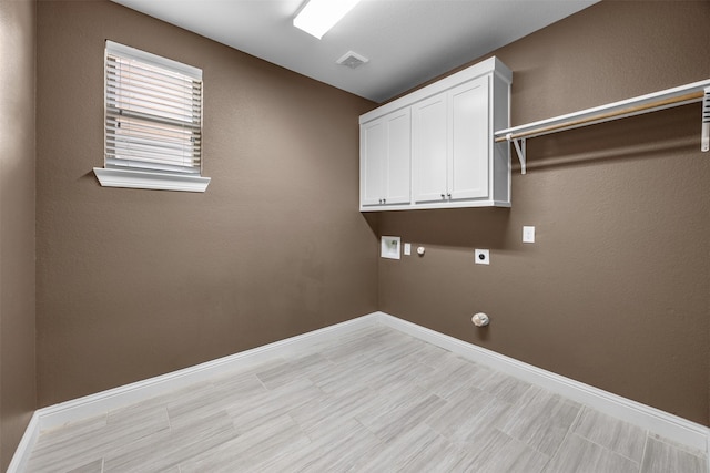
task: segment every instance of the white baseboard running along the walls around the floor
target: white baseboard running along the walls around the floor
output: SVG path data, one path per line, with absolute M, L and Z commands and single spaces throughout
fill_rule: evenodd
M 273 358 L 288 357 L 290 353 L 311 348 L 315 343 L 325 342 L 332 338 L 347 335 L 354 330 L 375 323 L 385 325 L 449 350 L 471 361 L 489 366 L 507 374 L 559 393 L 560 395 L 658 433 L 693 450 L 706 452 L 706 456 L 710 457 L 710 455 L 708 455 L 710 429 L 704 425 L 579 381 L 555 374 L 387 313 L 373 312 L 342 323 L 207 361 L 183 370 L 39 409 L 32 415 L 20 445 L 10 462 L 8 473 L 20 473 L 26 470 L 32 448 L 40 432 L 43 430 L 57 428 L 71 421 L 100 415 L 112 409 L 164 394 L 195 382 L 227 374 L 232 371 L 244 369 L 251 364 Z M 710 471 L 710 467 L 708 471 Z

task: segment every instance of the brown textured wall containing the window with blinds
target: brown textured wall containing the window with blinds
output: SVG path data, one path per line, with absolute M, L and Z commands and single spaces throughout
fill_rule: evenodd
M 108 1 L 38 30 L 40 407 L 376 310 L 371 102 Z M 203 69 L 206 193 L 100 187 L 104 39 Z

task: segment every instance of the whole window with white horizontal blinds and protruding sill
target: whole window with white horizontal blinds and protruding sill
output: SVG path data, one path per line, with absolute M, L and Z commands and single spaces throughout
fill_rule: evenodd
M 104 95 L 102 186 L 206 189 L 200 69 L 106 41 Z

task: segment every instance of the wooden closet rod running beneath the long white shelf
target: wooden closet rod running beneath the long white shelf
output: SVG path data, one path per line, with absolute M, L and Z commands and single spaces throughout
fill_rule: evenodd
M 539 126 L 537 128 L 531 128 L 531 130 L 527 130 L 518 133 L 509 133 L 504 136 L 496 137 L 496 143 L 510 141 L 510 140 L 541 136 L 545 134 L 555 133 L 564 130 L 571 130 L 571 128 L 576 128 L 585 125 L 592 125 L 596 123 L 601 123 L 610 120 L 638 115 L 647 111 L 668 107 L 669 105 L 676 105 L 676 104 L 680 105 L 680 104 L 692 103 L 692 102 L 702 100 L 703 95 L 704 95 L 703 91 L 697 91 L 697 92 L 688 93 L 684 95 L 678 95 L 674 97 L 663 99 L 656 102 L 649 102 L 641 105 L 629 106 L 629 107 L 616 110 L 612 112 L 599 113 L 597 115 L 587 116 L 585 119 L 569 120 L 567 122 L 556 123 L 554 125 Z

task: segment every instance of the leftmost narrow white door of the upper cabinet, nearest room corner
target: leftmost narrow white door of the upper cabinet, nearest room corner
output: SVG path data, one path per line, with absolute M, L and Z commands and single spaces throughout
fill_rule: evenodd
M 387 127 L 384 120 L 359 128 L 359 200 L 378 205 L 385 195 L 384 166 L 387 160 Z

